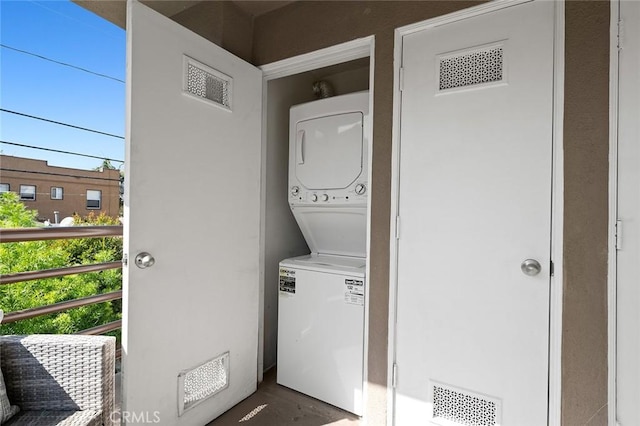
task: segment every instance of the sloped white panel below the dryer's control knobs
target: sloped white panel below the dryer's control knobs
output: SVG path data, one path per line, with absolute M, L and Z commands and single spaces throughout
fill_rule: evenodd
M 312 253 L 366 257 L 366 206 L 291 206 L 291 211 Z

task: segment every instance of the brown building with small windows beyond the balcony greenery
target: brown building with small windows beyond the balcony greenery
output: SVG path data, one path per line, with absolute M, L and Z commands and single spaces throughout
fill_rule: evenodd
M 0 155 L 0 192 L 15 192 L 39 220 L 55 222 L 74 213 L 118 217 L 120 172 L 49 166 L 46 161 Z

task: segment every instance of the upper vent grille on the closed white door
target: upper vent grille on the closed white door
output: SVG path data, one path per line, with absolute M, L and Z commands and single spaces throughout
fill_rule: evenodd
M 447 54 L 439 58 L 440 90 L 501 82 L 504 75 L 503 46 Z

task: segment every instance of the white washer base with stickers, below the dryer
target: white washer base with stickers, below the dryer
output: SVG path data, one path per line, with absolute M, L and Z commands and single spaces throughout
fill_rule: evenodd
M 365 261 L 280 263 L 279 384 L 362 415 Z

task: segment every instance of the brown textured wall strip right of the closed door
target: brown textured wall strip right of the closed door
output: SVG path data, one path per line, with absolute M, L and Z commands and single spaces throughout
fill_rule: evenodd
M 562 424 L 607 424 L 609 2 L 568 1 Z

